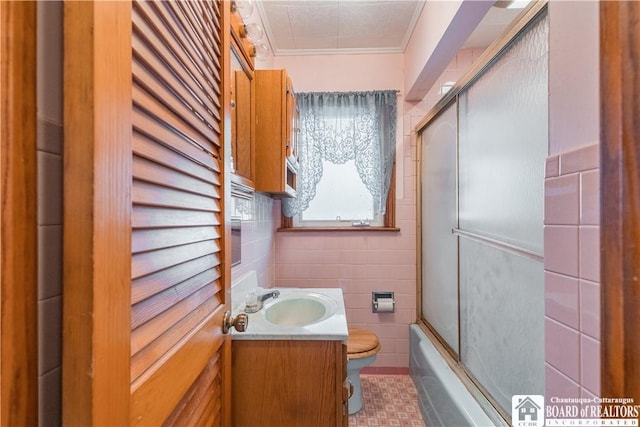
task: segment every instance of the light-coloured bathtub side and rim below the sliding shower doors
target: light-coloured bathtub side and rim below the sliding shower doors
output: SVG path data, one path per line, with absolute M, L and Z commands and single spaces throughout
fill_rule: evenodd
M 418 325 L 410 326 L 409 344 L 411 378 L 429 427 L 496 425 Z

